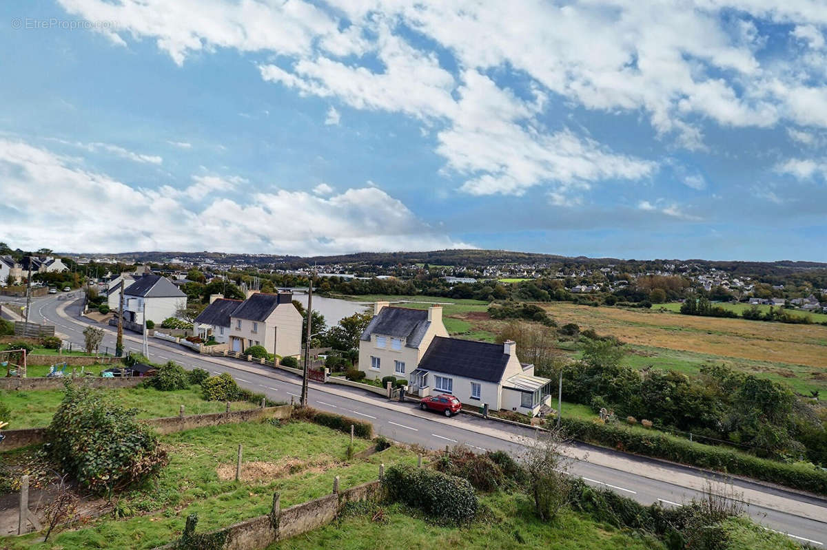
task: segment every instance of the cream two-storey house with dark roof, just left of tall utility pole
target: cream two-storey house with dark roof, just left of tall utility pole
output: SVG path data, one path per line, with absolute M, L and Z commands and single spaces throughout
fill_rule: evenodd
M 226 306 L 214 301 L 201 315 L 215 306 Z M 302 314 L 293 305 L 291 292 L 268 294 L 256 292 L 242 301 L 229 314 L 227 341 L 231 351 L 244 351 L 250 346 L 264 346 L 268 353 L 280 357 L 298 356 L 302 349 Z

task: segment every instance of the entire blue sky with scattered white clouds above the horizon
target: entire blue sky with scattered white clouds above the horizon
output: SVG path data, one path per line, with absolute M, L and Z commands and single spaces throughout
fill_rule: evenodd
M 827 261 L 823 0 L 413 4 L 2 2 L 0 240 Z

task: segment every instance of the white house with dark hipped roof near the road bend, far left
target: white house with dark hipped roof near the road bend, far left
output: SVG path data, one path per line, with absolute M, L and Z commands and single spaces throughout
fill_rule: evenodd
M 186 306 L 187 295 L 160 275 L 138 277 L 123 291 L 123 318 L 133 323 L 151 320 L 160 325 Z

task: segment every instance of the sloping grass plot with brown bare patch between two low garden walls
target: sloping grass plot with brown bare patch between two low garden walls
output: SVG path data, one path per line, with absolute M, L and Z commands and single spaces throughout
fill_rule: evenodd
M 199 532 L 217 529 L 268 513 L 275 491 L 287 507 L 329 494 L 334 476 L 347 488 L 376 479 L 380 462 L 416 462 L 414 453 L 396 447 L 345 462 L 350 437 L 306 422 L 225 424 L 171 434 L 162 442 L 170 453 L 169 466 L 156 482 L 122 495 L 118 503 L 122 510 L 141 515 L 92 520 L 58 534 L 49 544 L 38 543 L 35 534 L 0 538 L 0 547 L 154 548 L 178 538 L 189 514 L 198 514 Z M 295 471 L 249 481 L 222 480 L 217 468 L 235 471 L 239 443 L 246 464 L 260 461 L 275 467 L 290 461 Z M 371 444 L 357 439 L 356 453 Z

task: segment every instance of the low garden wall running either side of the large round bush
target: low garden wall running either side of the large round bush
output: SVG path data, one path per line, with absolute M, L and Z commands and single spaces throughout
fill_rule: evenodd
M 140 379 L 127 378 L 126 380 L 136 380 L 136 382 L 140 382 Z M 292 405 L 279 405 L 259 409 L 207 413 L 204 415 L 151 418 L 141 420 L 141 422 L 154 427 L 159 434 L 174 434 L 175 432 L 183 432 L 187 429 L 218 426 L 221 424 L 238 424 L 265 418 L 285 419 L 289 418 L 292 410 Z M 11 451 L 16 448 L 27 447 L 28 445 L 41 444 L 45 443 L 46 440 L 45 428 L 5 429 L 2 431 L 2 434 L 6 436 L 6 439 L 3 439 L 2 443 L 0 443 L 0 451 Z

